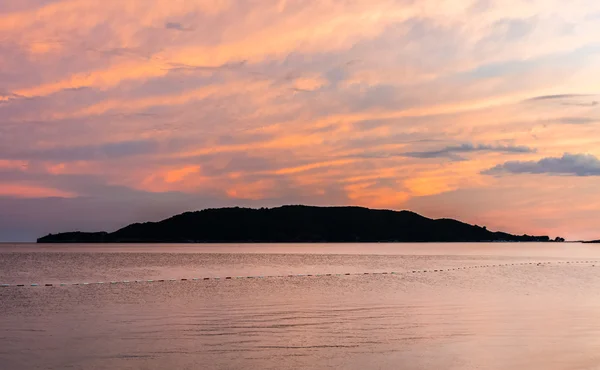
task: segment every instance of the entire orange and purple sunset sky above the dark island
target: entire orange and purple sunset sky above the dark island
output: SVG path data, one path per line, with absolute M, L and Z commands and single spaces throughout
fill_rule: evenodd
M 595 0 L 0 0 L 0 241 L 208 207 L 600 238 Z

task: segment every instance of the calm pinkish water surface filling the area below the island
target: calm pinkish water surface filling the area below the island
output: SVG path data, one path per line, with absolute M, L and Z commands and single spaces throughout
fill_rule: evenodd
M 2 245 L 0 283 L 42 286 L 0 288 L 0 369 L 598 369 L 592 260 L 600 246 Z M 224 279 L 256 275 L 281 277 Z M 166 281 L 71 285 L 148 279 Z

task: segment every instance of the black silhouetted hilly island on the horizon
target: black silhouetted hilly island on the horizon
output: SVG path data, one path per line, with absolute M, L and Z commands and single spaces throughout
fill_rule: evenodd
M 547 236 L 491 232 L 456 220 L 433 220 L 409 211 L 361 207 L 283 206 L 186 212 L 136 223 L 113 233 L 61 233 L 38 243 L 189 242 L 480 242 L 550 241 Z

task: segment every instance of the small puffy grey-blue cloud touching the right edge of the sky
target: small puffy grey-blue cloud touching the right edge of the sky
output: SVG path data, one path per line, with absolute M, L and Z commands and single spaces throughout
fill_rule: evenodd
M 600 160 L 591 154 L 565 153 L 539 161 L 511 161 L 483 171 L 486 175 L 502 173 L 552 174 L 570 176 L 600 176 Z

